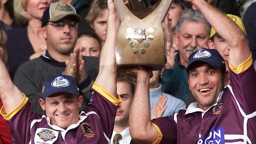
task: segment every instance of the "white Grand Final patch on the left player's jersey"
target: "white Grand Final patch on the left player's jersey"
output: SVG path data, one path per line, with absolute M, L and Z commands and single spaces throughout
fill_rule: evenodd
M 58 138 L 59 132 L 53 129 L 40 127 L 35 131 L 35 144 L 53 144 Z

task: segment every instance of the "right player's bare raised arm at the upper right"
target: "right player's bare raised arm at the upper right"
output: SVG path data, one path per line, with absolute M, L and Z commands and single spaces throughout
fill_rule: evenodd
M 235 22 L 204 0 L 186 1 L 197 6 L 211 26 L 229 44 L 229 62 L 233 67 L 240 65 L 250 57 L 247 38 Z

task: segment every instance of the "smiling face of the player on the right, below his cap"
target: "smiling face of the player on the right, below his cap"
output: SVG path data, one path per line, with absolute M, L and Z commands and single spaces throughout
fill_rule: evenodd
M 198 107 L 204 111 L 216 103 L 227 81 L 227 72 L 223 75 L 221 68 L 213 68 L 206 63 L 189 70 L 189 89 L 197 100 Z

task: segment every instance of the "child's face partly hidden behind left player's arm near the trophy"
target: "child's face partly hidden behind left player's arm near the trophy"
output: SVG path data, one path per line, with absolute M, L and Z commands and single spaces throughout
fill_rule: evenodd
M 107 21 L 108 21 L 108 9 L 102 9 L 98 17 L 93 22 L 91 27 L 95 30 L 95 33 L 104 43 L 107 35 Z

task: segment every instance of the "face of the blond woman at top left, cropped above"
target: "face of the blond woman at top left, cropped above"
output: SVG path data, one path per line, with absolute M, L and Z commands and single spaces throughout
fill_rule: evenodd
M 53 0 L 28 0 L 26 11 L 30 17 L 41 20 L 45 9 Z

